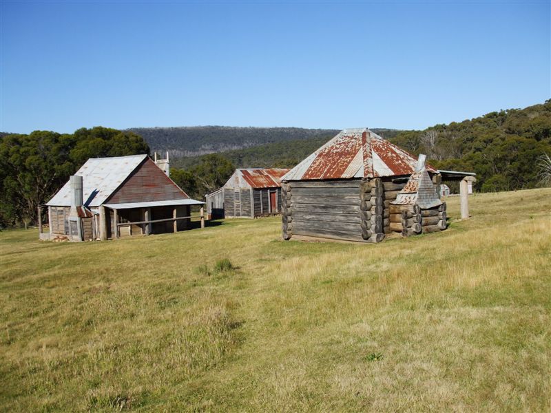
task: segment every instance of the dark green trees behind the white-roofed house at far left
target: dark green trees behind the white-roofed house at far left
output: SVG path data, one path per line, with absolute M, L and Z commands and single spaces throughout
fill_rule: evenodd
M 0 137 L 0 226 L 37 220 L 39 205 L 88 158 L 149 153 L 141 136 L 105 127 L 74 134 L 34 131 Z

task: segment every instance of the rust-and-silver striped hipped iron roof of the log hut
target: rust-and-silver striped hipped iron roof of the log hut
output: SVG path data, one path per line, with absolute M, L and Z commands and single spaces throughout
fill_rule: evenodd
M 410 175 L 417 159 L 367 128 L 344 129 L 285 174 L 283 180 Z M 427 169 L 436 172 L 430 166 Z

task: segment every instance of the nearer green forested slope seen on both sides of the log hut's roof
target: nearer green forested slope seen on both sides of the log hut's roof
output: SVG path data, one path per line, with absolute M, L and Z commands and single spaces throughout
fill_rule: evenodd
M 540 184 L 539 159 L 551 156 L 551 100 L 525 109 L 490 112 L 424 130 L 371 129 L 416 156 L 425 153 L 438 169 L 474 171 L 477 191 L 509 191 Z M 236 167 L 293 167 L 331 139 L 332 134 L 273 142 L 220 155 Z M 193 169 L 201 156 L 180 158 L 176 167 Z

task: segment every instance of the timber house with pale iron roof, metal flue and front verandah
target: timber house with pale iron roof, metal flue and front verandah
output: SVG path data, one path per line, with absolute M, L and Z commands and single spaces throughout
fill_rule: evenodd
M 191 205 L 203 203 L 147 155 L 90 158 L 46 203 L 50 232 L 40 236 L 89 241 L 181 231 Z

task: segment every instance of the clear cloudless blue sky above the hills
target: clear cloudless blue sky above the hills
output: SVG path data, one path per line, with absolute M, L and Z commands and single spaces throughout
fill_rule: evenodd
M 421 129 L 551 97 L 550 1 L 1 0 L 0 130 Z

